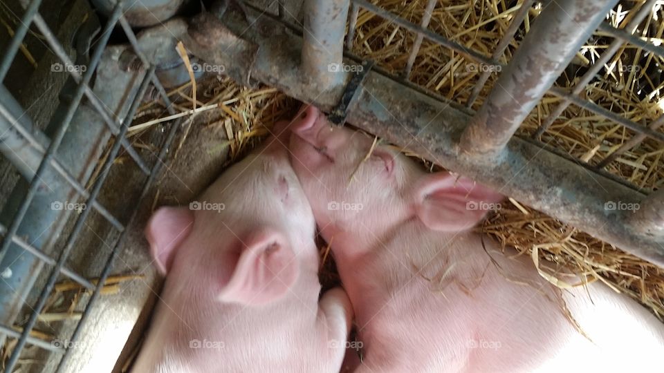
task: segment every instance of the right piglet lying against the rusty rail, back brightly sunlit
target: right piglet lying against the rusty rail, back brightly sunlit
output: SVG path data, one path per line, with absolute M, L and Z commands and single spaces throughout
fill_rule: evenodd
M 386 146 L 360 164 L 373 137 L 312 106 L 291 130 L 293 168 L 364 343 L 356 372 L 661 369 L 664 325 L 645 308 L 601 283 L 560 291 L 530 258 L 470 230 L 486 213 L 472 206 L 499 202 L 495 191 Z

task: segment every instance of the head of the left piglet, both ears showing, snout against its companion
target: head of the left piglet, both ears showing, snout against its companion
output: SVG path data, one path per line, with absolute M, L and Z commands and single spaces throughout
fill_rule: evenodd
M 313 213 L 282 140 L 268 137 L 231 166 L 193 211 L 154 213 L 146 236 L 160 273 L 177 272 L 183 287 L 204 287 L 221 302 L 260 305 L 284 296 L 302 265 L 317 268 Z

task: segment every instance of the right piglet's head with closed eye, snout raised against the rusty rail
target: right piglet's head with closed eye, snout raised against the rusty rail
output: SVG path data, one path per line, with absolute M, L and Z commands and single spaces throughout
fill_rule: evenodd
M 468 178 L 425 173 L 375 137 L 331 126 L 313 106 L 291 131 L 291 162 L 327 239 L 380 237 L 413 218 L 437 231 L 469 229 L 502 198 Z

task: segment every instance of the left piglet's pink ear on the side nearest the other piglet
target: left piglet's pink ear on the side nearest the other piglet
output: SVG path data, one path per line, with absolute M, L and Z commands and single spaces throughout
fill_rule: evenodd
M 286 294 L 299 275 L 295 253 L 284 236 L 272 230 L 252 233 L 228 284 L 221 289 L 223 302 L 262 305 Z

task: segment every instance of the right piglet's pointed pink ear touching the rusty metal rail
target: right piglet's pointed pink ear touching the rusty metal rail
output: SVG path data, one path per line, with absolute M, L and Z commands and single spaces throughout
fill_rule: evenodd
M 461 231 L 480 222 L 503 196 L 463 176 L 448 172 L 425 176 L 416 185 L 418 218 L 436 231 Z

